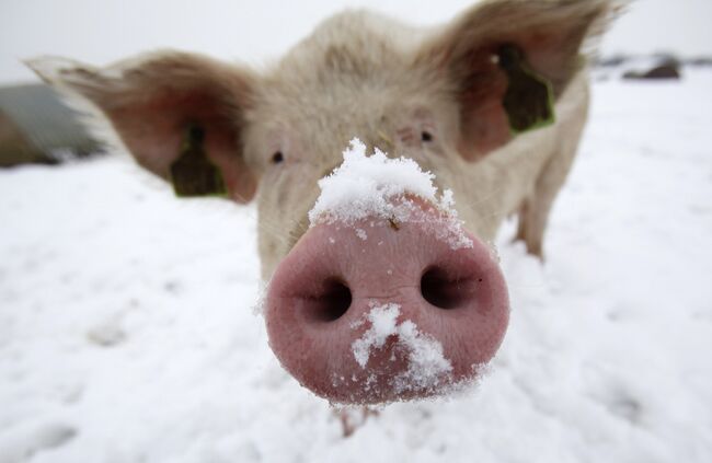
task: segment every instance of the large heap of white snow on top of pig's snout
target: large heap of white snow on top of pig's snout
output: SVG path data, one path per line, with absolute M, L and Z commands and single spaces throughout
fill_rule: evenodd
M 343 155 L 344 162 L 319 181 L 321 195 L 309 211 L 311 225 L 336 221 L 351 225 L 369 217 L 397 223 L 432 222 L 429 229 L 436 238 L 445 240 L 452 248 L 472 246 L 457 218 L 452 192 L 446 189 L 438 197 L 438 188 L 433 184 L 435 175 L 424 172 L 415 161 L 389 159 L 378 148 L 366 155 L 366 146 L 357 138 L 351 141 Z M 443 217 L 423 212 L 409 197 L 434 205 Z M 370 225 L 374 227 L 372 220 Z M 357 229 L 356 234 L 361 240 L 367 238 L 363 229 Z

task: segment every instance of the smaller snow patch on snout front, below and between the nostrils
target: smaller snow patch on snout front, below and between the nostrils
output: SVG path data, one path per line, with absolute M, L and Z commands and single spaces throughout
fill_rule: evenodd
M 371 349 L 382 348 L 390 336 L 397 336 L 395 347 L 403 348 L 407 356 L 407 369 L 391 382 L 397 393 L 432 389 L 449 382 L 452 364 L 445 358 L 443 345 L 437 339 L 420 332 L 410 320 L 398 324 L 397 319 L 401 313 L 399 304 L 377 305 L 371 302 L 369 306 L 371 310 L 366 319 L 371 326 L 352 344 L 354 357 L 361 368 L 366 368 Z

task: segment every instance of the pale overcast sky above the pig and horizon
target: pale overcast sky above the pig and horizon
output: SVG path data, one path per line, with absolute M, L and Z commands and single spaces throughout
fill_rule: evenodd
M 261 63 L 331 13 L 368 7 L 434 24 L 472 0 L 0 0 L 0 83 L 33 80 L 19 62 L 62 55 L 106 63 L 154 48 L 181 48 Z M 638 0 L 604 39 L 604 54 L 673 50 L 712 55 L 712 0 Z

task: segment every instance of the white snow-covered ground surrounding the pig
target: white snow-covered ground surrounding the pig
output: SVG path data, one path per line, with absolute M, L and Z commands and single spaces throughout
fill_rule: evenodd
M 492 372 L 348 439 L 267 347 L 254 208 L 120 157 L 1 171 L 0 462 L 711 461 L 711 93 L 596 83 L 546 265 L 501 233 Z

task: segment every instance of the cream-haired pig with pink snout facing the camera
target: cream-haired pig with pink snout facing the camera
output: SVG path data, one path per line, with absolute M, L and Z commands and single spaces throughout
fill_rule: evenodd
M 468 383 L 497 351 L 509 302 L 487 243 L 516 213 L 516 239 L 543 256 L 586 123 L 586 47 L 618 7 L 491 0 L 432 28 L 346 11 L 261 71 L 171 50 L 103 69 L 61 58 L 28 66 L 91 124 L 108 121 L 113 141 L 176 192 L 187 172 L 210 180 L 205 193 L 255 200 L 272 349 L 315 394 L 380 404 Z M 352 223 L 366 241 L 344 223 L 310 222 L 319 180 L 354 137 L 434 173 L 471 245 L 448 245 L 423 220 Z M 186 152 L 193 161 L 177 175 Z M 448 215 L 417 195 L 393 200 L 425 222 Z M 391 331 L 359 358 L 378 323 Z M 406 337 L 435 346 L 435 375 L 405 374 L 417 354 Z

